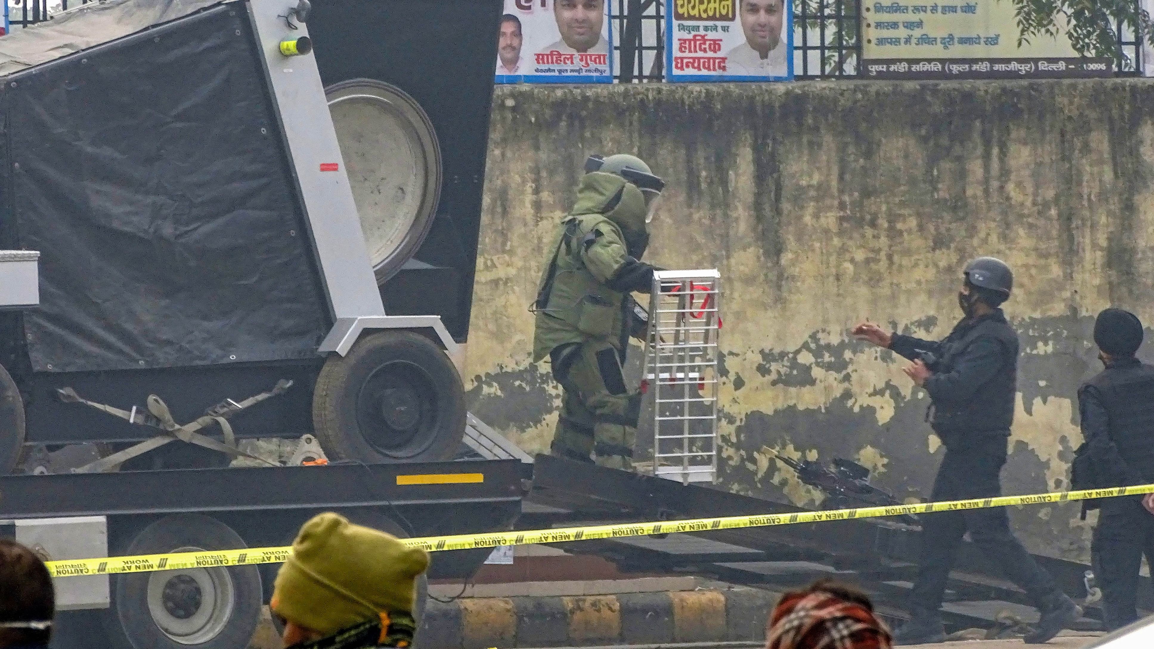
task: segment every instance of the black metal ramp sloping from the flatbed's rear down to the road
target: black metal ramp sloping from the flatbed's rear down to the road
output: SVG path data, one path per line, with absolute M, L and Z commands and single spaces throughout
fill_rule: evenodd
M 568 460 L 538 456 L 531 491 L 517 529 L 575 527 L 629 521 L 660 521 L 803 509 L 654 476 L 630 473 Z M 727 583 L 781 592 L 818 577 L 846 581 L 874 598 L 891 622 L 906 618 L 916 566 L 919 529 L 890 519 L 842 520 L 771 528 L 705 530 L 675 535 L 622 537 L 556 547 L 592 554 L 636 573 L 699 574 Z M 1086 596 L 1087 566 L 1034 557 L 1076 599 Z M 1154 610 L 1148 577 L 1139 588 L 1139 607 Z M 1005 581 L 997 567 L 964 543 L 950 573 L 944 618 L 949 631 L 996 627 L 1006 616 L 1029 621 L 1028 597 Z M 1034 613 L 1036 614 L 1036 613 Z M 1072 628 L 1101 628 L 1099 604 Z

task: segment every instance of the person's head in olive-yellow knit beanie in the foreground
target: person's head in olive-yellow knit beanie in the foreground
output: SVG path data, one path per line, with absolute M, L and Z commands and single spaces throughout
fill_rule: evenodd
M 269 607 L 285 647 L 409 647 L 424 550 L 325 512 L 300 528 Z

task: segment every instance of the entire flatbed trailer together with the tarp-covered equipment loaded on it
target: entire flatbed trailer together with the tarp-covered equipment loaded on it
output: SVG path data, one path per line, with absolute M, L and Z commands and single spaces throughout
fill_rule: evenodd
M 38 305 L 0 304 L 0 531 L 65 559 L 325 509 L 511 524 L 520 463 L 442 462 L 501 9 L 107 0 L 0 38 L 0 249 L 39 253 Z M 60 580 L 58 642 L 243 646 L 275 568 Z

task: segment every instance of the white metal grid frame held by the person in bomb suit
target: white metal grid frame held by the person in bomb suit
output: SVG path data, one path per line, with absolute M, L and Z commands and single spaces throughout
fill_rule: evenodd
M 717 478 L 720 297 L 715 269 L 653 274 L 642 371 L 653 393 L 652 473 L 682 484 Z

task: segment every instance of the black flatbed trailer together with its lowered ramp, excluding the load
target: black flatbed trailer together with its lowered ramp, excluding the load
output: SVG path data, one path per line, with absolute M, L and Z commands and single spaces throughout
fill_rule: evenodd
M 474 448 L 488 457 L 501 454 L 484 445 Z M 0 519 L 9 519 L 7 527 L 0 522 L 0 535 L 33 545 L 43 542 L 46 555 L 65 560 L 104 552 L 282 546 L 301 522 L 321 510 L 342 512 L 400 537 L 802 510 L 549 456 L 531 462 L 9 476 L 0 478 Z M 864 588 L 897 624 L 916 569 L 916 532 L 908 524 L 871 519 L 559 546 L 607 559 L 627 573 L 699 574 L 777 591 L 832 575 Z M 467 581 L 488 554 L 489 549 L 436 552 L 428 576 Z M 1037 559 L 1070 596 L 1091 595 L 1084 579 L 1088 566 Z M 247 637 L 256 625 L 277 569 L 269 564 L 62 577 L 57 582 L 65 609 L 57 646 L 93 647 L 93 629 L 118 648 L 242 646 L 238 639 Z M 232 606 L 218 604 L 224 599 Z M 951 628 L 992 627 L 1013 617 L 1028 621 L 1033 614 L 1028 604 L 1025 594 L 1001 579 L 996 566 L 969 544 L 964 546 L 945 603 Z M 1097 629 L 1101 612 L 1093 600 L 1088 604 L 1080 628 Z M 1151 609 L 1154 602 L 1144 597 L 1141 605 Z

